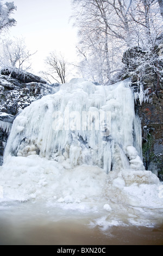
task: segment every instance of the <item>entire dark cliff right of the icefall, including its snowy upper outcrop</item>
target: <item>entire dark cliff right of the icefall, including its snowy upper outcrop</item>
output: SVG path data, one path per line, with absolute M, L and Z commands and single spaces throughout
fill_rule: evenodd
M 158 59 L 163 54 L 162 41 L 163 39 L 161 38 L 161 42 L 155 48 Z M 139 72 L 135 72 L 135 70 L 139 69 L 132 62 L 134 62 L 134 58 L 137 58 L 137 56 L 139 59 L 143 59 L 143 54 L 140 47 L 134 47 L 124 53 L 122 62 L 126 65 L 127 71 L 133 71 L 134 75 L 131 77 L 131 85 L 134 88 L 134 92 L 137 90 L 140 93 L 140 87 L 136 87 L 136 84 L 138 84 L 137 81 L 141 81 L 143 87 L 141 93 L 146 94 L 142 97 L 141 101 L 139 99 L 135 101 L 135 111 L 141 118 L 142 123 L 143 163 L 147 170 L 158 174 L 158 177 L 163 180 L 163 80 L 159 72 L 149 70 L 149 66 L 147 72 L 144 72 L 141 76 Z M 160 69 L 162 69 L 163 63 L 160 62 L 159 65 Z M 123 78 L 127 77 L 129 75 L 126 73 Z

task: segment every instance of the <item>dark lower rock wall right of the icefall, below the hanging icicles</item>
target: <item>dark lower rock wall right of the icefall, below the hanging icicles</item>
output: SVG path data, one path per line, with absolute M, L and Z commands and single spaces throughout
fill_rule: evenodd
M 163 92 L 152 95 L 152 102 L 137 103 L 136 112 L 142 120 L 142 154 L 146 169 L 163 180 Z

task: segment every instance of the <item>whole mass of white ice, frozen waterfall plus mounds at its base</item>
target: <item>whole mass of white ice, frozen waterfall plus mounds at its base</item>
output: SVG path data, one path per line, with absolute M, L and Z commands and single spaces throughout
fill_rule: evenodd
M 128 81 L 109 87 L 83 80 L 63 84 L 14 120 L 0 167 L 0 202 L 92 212 L 101 215 L 92 219 L 101 228 L 162 221 L 162 184 L 143 166 L 137 121 Z M 76 130 L 77 123 L 86 129 Z

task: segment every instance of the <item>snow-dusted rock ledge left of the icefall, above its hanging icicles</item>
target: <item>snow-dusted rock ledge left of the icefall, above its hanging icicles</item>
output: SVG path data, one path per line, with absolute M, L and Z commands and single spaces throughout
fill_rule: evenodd
M 26 79 L 19 74 L 0 75 L 0 111 L 16 115 L 34 100 L 54 92 L 54 88 L 41 77 L 27 74 Z M 8 74 L 8 75 L 7 75 Z M 15 77 L 15 78 L 14 78 Z M 22 79 L 21 79 L 22 77 Z

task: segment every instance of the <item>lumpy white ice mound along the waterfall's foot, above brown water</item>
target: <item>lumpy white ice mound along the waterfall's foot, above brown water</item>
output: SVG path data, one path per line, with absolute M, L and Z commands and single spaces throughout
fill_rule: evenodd
M 161 221 L 161 186 L 148 170 L 125 169 L 106 174 L 98 166 L 67 169 L 62 163 L 38 155 L 11 156 L 0 169 L 0 203 L 43 202 L 49 210 L 59 207 L 98 214 L 100 219 L 91 220 L 101 228 L 136 223 L 139 217 L 143 225 Z M 99 224 L 99 220 L 103 222 Z

